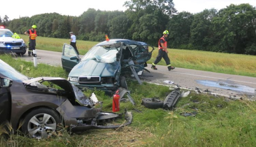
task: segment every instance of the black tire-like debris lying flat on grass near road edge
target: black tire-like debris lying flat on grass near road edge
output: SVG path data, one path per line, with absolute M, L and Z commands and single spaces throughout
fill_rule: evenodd
M 157 98 L 142 98 L 142 105 L 151 109 L 158 109 L 163 107 L 163 100 Z

